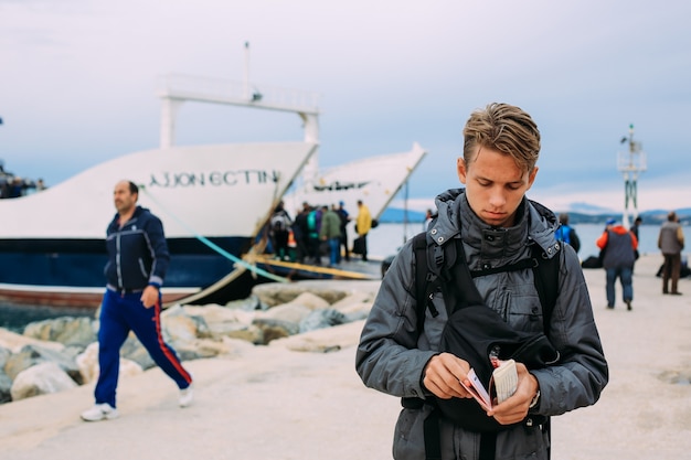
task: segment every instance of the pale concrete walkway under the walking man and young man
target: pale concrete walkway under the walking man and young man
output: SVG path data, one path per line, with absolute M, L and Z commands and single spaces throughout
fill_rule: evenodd
M 630 312 L 620 300 L 606 310 L 604 271 L 585 271 L 610 383 L 595 406 L 555 418 L 554 459 L 691 459 L 691 280 L 680 282 L 687 296 L 662 296 L 660 261 L 638 261 Z M 343 327 L 353 344 L 361 327 Z M 327 354 L 242 346 L 227 359 L 185 363 L 196 384 L 192 407 L 180 409 L 174 385 L 151 370 L 123 379 L 121 416 L 102 422 L 78 417 L 92 386 L 12 403 L 0 406 L 1 457 L 390 459 L 398 402 L 364 388 L 353 363 L 354 346 Z

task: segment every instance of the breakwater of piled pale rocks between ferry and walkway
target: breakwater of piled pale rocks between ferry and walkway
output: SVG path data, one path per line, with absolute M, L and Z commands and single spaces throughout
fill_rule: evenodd
M 249 298 L 225 306 L 167 309 L 161 314 L 163 336 L 182 361 L 230 355 L 238 346 L 276 341 L 295 351 L 340 350 L 357 336 L 350 329 L 343 334 L 315 331 L 366 318 L 378 287 L 378 282 L 355 281 L 259 285 Z M 22 334 L 0 328 L 0 404 L 94 382 L 98 377 L 98 325 L 95 315 L 32 322 Z M 153 366 L 130 333 L 120 351 L 120 375 Z

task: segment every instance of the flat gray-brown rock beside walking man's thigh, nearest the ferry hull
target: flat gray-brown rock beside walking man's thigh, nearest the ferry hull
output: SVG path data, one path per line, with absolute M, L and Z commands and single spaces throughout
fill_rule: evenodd
M 45 321 L 35 321 L 24 328 L 25 336 L 60 342 L 64 345 L 86 347 L 96 340 L 94 321 L 89 318 L 62 317 Z

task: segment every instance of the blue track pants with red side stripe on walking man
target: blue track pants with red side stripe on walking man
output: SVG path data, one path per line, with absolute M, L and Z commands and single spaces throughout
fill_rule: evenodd
M 141 292 L 125 293 L 106 290 L 100 306 L 98 330 L 98 365 L 100 373 L 94 396 L 96 404 L 115 406 L 115 393 L 120 371 L 120 347 L 130 331 L 147 349 L 156 364 L 172 378 L 180 389 L 192 383 L 176 351 L 161 334 L 161 300 L 151 308 L 141 303 Z

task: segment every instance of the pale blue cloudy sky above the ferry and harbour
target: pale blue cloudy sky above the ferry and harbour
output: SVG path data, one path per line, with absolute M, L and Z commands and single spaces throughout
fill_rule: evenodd
M 530 197 L 623 210 L 632 124 L 639 211 L 689 207 L 689 18 L 682 0 L 0 0 L 0 159 L 56 184 L 158 147 L 163 75 L 247 72 L 320 96 L 323 167 L 427 149 L 411 207 L 460 185 L 463 126 L 492 101 L 540 128 Z M 178 118 L 179 145 L 301 139 L 294 114 L 188 103 Z

